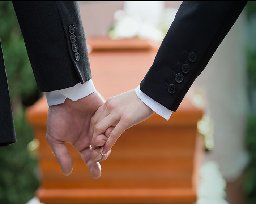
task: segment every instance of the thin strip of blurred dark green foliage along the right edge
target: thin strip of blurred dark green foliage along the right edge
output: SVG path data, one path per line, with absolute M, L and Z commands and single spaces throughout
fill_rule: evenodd
M 248 25 L 255 25 L 252 23 L 256 19 L 256 1 L 249 1 L 245 8 L 247 14 Z M 248 29 L 252 32 L 253 29 Z M 250 34 L 253 36 L 254 34 Z M 248 35 L 248 36 L 250 36 Z M 255 34 L 256 35 L 256 34 Z M 253 38 L 255 38 L 255 35 Z M 252 47 L 252 40 L 248 39 L 247 46 L 247 68 L 248 68 L 248 91 L 249 96 L 253 96 L 256 93 L 256 47 Z M 255 96 L 254 96 L 255 97 Z M 255 99 L 250 98 L 251 104 Z M 255 107 L 255 104 L 252 104 Z M 253 108 L 252 108 L 253 110 Z M 247 204 L 256 203 L 256 113 L 251 111 L 247 120 L 247 133 L 246 133 L 246 145 L 251 156 L 251 161 L 248 165 L 247 172 L 244 179 L 244 190 L 247 194 Z

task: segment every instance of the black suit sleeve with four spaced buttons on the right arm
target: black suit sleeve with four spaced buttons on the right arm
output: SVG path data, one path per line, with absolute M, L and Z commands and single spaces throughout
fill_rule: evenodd
M 141 91 L 166 108 L 176 111 L 246 3 L 184 1 L 152 67 L 141 81 Z

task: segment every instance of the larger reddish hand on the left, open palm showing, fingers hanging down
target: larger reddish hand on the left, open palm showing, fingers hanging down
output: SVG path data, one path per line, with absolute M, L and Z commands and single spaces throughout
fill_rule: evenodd
M 69 175 L 73 170 L 73 161 L 65 142 L 70 143 L 80 153 L 91 176 L 101 176 L 101 166 L 91 159 L 89 127 L 91 117 L 103 105 L 104 99 L 94 92 L 78 101 L 66 99 L 63 104 L 49 106 L 47 116 L 46 139 L 54 151 L 63 174 Z M 102 160 L 106 159 L 105 155 Z

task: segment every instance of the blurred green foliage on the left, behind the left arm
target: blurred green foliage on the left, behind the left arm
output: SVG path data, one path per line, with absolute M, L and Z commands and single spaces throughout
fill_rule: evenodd
M 14 114 L 17 143 L 0 148 L 0 203 L 25 204 L 38 187 L 37 160 L 27 143 L 33 130 L 24 111 L 40 96 L 11 1 L 0 1 L 0 37 Z

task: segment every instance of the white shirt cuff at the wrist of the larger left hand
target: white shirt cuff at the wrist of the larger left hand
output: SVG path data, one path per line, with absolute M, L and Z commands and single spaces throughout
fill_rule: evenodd
M 61 103 L 64 103 L 66 98 L 71 99 L 72 101 L 77 101 L 81 98 L 88 96 L 89 94 L 95 92 L 95 87 L 93 81 L 90 79 L 84 84 L 78 83 L 73 87 L 45 92 L 48 106 L 54 106 Z

